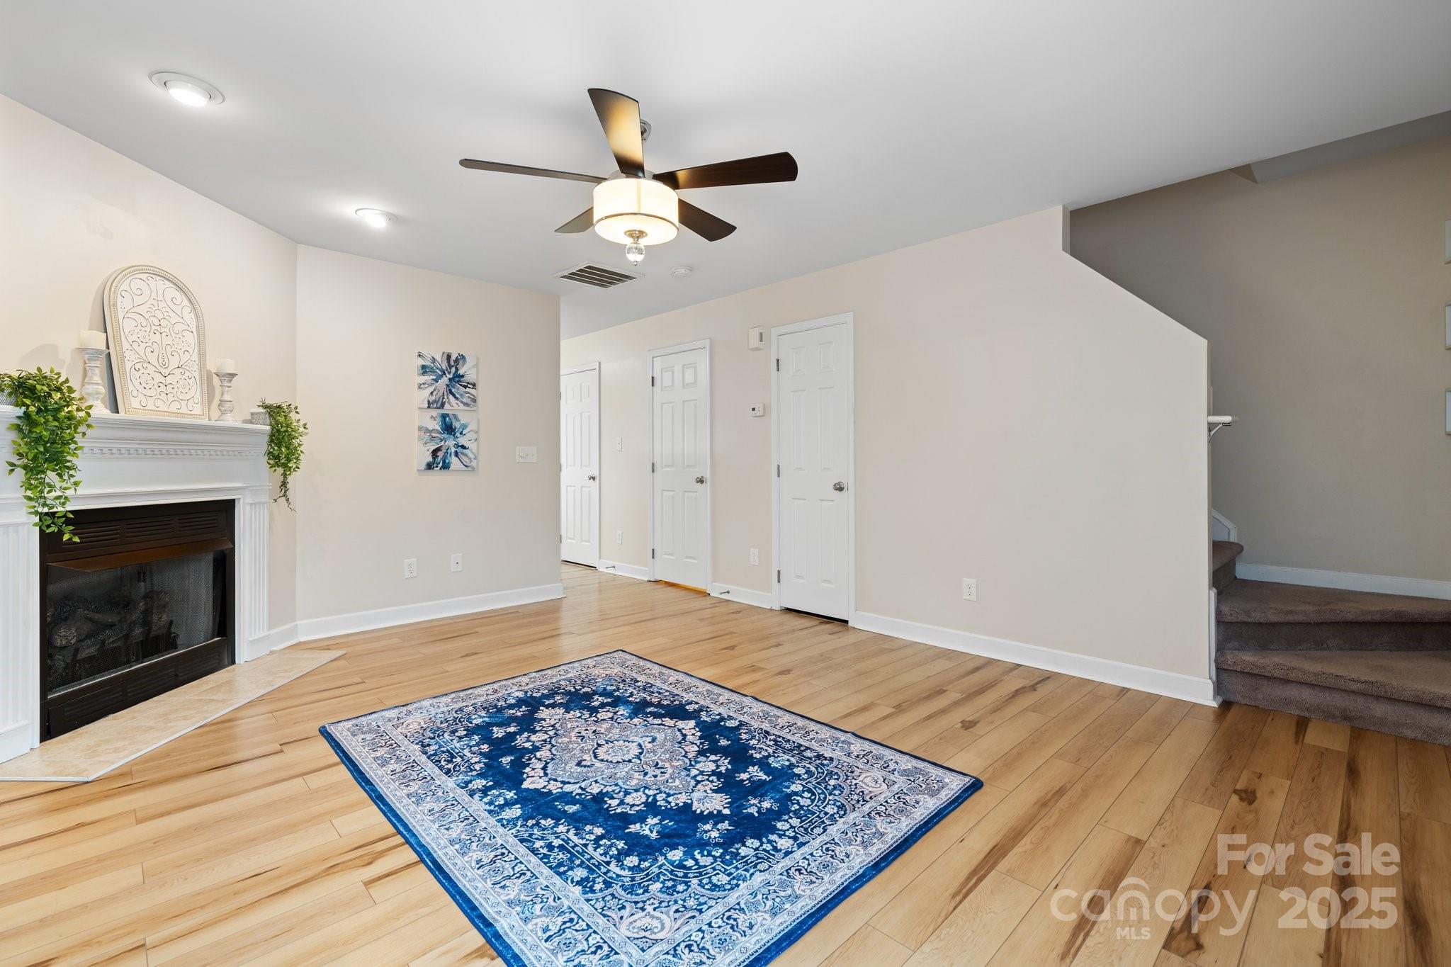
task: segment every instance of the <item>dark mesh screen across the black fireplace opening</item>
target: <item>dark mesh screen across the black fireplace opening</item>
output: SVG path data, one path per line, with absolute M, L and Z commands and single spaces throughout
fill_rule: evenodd
M 225 552 L 46 576 L 46 673 L 54 696 L 221 638 Z

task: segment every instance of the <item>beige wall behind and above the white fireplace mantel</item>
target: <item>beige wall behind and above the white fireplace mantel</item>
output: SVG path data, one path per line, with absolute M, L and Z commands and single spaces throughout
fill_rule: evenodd
M 0 97 L 0 368 L 54 365 L 80 386 L 75 333 L 103 328 L 106 277 L 132 264 L 192 289 L 207 352 L 237 360 L 238 409 L 296 396 L 296 245 Z M 295 515 L 273 505 L 273 628 L 296 616 L 295 545 Z

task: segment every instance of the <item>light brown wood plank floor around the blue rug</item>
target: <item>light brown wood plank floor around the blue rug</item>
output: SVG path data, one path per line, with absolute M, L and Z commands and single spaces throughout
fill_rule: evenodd
M 347 654 L 94 783 L 0 786 L 0 964 L 499 963 L 318 726 L 614 648 L 987 783 L 778 964 L 1451 963 L 1442 747 L 588 568 L 566 567 L 564 583 L 563 602 L 311 642 Z M 1261 876 L 1217 868 L 1219 834 L 1368 834 L 1403 855 L 1396 868 L 1291 860 Z M 1058 896 L 1101 889 L 1117 903 L 1120 884 L 1151 902 L 1207 887 L 1225 909 L 1210 919 L 1200 897 L 1196 931 L 1152 909 L 1098 922 Z M 1309 910 L 1290 893 L 1316 889 Z M 1396 924 L 1326 916 L 1329 890 L 1351 889 L 1390 889 Z M 1244 926 L 1222 932 L 1230 908 Z M 1306 925 L 1283 928 L 1283 915 Z

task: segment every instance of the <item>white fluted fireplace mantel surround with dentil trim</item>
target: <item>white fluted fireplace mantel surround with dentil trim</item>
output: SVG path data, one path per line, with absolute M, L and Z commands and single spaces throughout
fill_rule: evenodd
M 12 454 L 13 406 L 0 406 L 0 455 Z M 93 416 L 81 448 L 75 510 L 235 500 L 237 660 L 268 649 L 267 428 L 250 423 Z M 3 470 L 3 468 L 0 468 Z M 0 473 L 0 761 L 41 742 L 39 531 L 19 476 Z

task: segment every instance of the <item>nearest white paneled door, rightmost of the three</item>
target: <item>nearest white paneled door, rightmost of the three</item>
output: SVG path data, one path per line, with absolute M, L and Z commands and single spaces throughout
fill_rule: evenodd
M 849 619 L 855 574 L 850 313 L 772 329 L 778 607 Z

